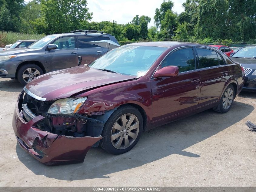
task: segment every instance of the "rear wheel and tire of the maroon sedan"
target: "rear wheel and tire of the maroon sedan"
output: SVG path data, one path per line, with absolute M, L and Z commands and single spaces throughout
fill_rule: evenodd
M 229 85 L 221 96 L 218 106 L 214 107 L 213 110 L 218 113 L 227 113 L 234 101 L 234 93 L 234 87 Z

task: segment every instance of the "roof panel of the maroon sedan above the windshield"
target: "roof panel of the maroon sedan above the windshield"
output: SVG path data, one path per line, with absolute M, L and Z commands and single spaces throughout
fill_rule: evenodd
M 139 42 L 139 43 L 130 43 L 127 45 L 151 46 L 151 47 L 172 47 L 174 45 L 181 45 L 181 44 L 199 45 L 197 43 L 177 42 L 177 41 Z

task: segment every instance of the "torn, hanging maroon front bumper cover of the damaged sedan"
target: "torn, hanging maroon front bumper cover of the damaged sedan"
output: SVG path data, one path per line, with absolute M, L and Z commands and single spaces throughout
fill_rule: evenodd
M 15 105 L 12 126 L 19 145 L 32 157 L 47 165 L 82 163 L 91 146 L 103 137 L 57 135 L 36 128 L 43 116 L 25 122 Z

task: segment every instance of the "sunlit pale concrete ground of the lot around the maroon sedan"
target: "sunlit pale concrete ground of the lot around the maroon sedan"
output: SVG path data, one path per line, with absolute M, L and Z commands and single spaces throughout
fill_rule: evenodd
M 144 132 L 122 155 L 92 148 L 80 164 L 48 167 L 25 153 L 12 130 L 16 80 L 0 78 L 0 186 L 256 186 L 256 93 L 226 114 L 213 110 Z

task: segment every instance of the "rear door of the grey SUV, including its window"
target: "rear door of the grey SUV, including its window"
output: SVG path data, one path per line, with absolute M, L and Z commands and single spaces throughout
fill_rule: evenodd
M 82 65 L 88 65 L 104 54 L 102 47 L 89 43 L 90 41 L 98 41 L 98 37 L 78 36 L 77 41 L 78 55 L 82 57 Z

